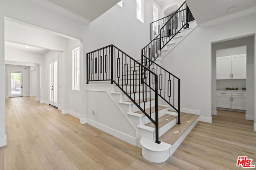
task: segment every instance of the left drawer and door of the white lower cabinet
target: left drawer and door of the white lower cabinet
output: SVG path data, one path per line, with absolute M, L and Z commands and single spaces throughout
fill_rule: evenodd
M 231 92 L 217 92 L 217 107 L 232 108 Z

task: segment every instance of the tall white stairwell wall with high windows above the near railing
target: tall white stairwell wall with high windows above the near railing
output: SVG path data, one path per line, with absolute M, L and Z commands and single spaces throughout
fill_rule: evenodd
M 155 0 L 144 0 L 144 23 L 136 18 L 136 0 L 123 0 L 122 8 L 113 6 L 88 25 L 86 51 L 113 44 L 131 57 L 140 58 L 141 49 L 150 43 L 153 4 L 160 9 Z

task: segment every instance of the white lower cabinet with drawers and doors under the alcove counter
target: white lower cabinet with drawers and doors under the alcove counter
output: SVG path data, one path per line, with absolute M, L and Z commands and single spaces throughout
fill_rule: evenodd
M 217 107 L 246 110 L 246 92 L 217 92 Z

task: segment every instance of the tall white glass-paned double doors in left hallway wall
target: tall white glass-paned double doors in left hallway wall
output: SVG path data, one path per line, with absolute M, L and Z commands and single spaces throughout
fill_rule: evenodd
M 58 58 L 49 61 L 49 104 L 58 107 Z

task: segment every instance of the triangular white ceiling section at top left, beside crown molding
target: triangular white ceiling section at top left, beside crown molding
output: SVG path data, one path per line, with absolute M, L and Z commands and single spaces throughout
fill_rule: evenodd
M 47 1 L 47 0 L 45 0 Z M 93 21 L 120 0 L 48 0 L 87 20 Z

